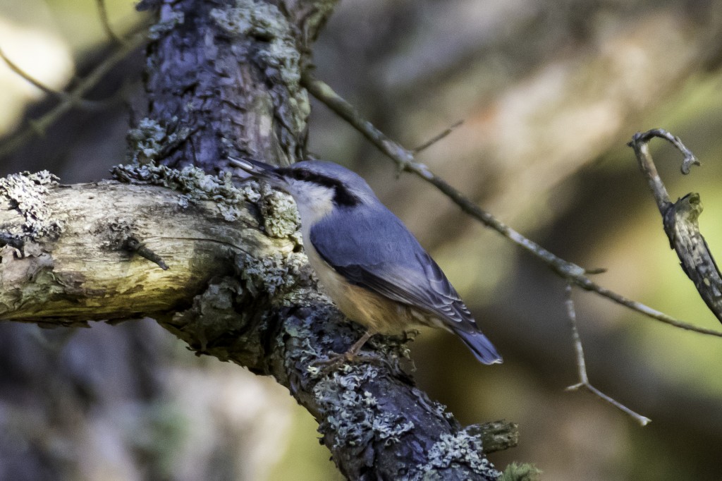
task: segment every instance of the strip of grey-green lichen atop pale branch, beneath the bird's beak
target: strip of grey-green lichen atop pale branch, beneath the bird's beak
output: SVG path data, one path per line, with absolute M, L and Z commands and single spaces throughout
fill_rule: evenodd
M 214 201 L 223 218 L 230 222 L 238 220 L 242 213 L 239 206 L 245 202 L 258 202 L 258 183 L 247 182 L 243 186 L 233 185 L 230 175 L 218 178 L 204 173 L 203 170 L 188 166 L 182 170 L 156 165 L 116 165 L 110 170 L 117 181 L 127 183 L 150 184 L 165 186 L 178 191 L 178 204 L 188 207 L 198 201 Z

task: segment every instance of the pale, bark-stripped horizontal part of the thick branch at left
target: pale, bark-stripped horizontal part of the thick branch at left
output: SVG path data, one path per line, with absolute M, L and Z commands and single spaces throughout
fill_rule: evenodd
M 292 254 L 294 243 L 259 232 L 250 190 L 198 170 L 167 184 L 175 190 L 114 181 L 61 186 L 47 173 L 0 179 L 0 319 L 159 316 L 232 272 L 233 255 Z M 129 249 L 131 240 L 168 269 Z

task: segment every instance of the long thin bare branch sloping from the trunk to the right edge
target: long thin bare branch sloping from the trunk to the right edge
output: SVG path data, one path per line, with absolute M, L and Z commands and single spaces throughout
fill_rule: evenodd
M 372 123 L 362 118 L 361 114 L 351 104 L 336 94 L 336 92 L 334 92 L 328 84 L 316 79 L 316 77 L 313 77 L 313 74 L 311 74 L 310 71 L 307 70 L 303 73 L 302 82 L 311 95 L 326 104 L 327 107 L 333 110 L 345 121 L 349 122 L 353 127 L 355 127 L 355 129 L 360 131 L 361 134 L 369 139 L 370 142 L 381 152 L 388 157 L 391 157 L 391 160 L 396 162 L 396 165 L 400 170 L 414 173 L 425 181 L 431 183 L 433 186 L 442 191 L 443 194 L 448 196 L 448 198 L 455 204 L 461 207 L 461 210 L 471 215 L 471 217 L 481 221 L 482 224 L 487 227 L 496 230 L 517 246 L 520 246 L 525 251 L 530 252 L 536 258 L 541 259 L 544 264 L 547 264 L 547 266 L 549 266 L 558 276 L 562 277 L 562 279 L 567 282 L 572 282 L 584 290 L 589 290 L 604 296 L 615 303 L 630 308 L 632 311 L 637 311 L 645 316 L 651 317 L 652 319 L 664 322 L 665 324 L 670 324 L 672 326 L 676 326 L 687 331 L 698 332 L 700 334 L 722 337 L 722 332 L 718 332 L 713 329 L 704 329 L 695 326 L 694 324 L 680 321 L 679 319 L 675 319 L 665 313 L 661 313 L 660 311 L 656 311 L 653 308 L 645 306 L 643 303 L 627 299 L 622 295 L 597 285 L 595 282 L 586 277 L 585 274 L 590 273 L 586 271 L 586 269 L 583 269 L 583 267 L 580 267 L 573 262 L 565 261 L 564 259 L 555 256 L 551 252 L 547 251 L 547 249 L 539 246 L 539 244 L 524 237 L 516 230 L 513 230 L 508 225 L 505 225 L 500 220 L 497 220 L 497 218 L 489 212 L 480 209 L 477 204 L 471 202 L 470 199 L 461 194 L 461 192 L 457 191 L 456 188 L 453 188 L 442 178 L 432 173 L 426 165 L 415 162 L 414 155 L 411 151 L 401 147 L 401 145 L 389 139 L 385 134 L 383 134 L 383 132 L 376 129 Z

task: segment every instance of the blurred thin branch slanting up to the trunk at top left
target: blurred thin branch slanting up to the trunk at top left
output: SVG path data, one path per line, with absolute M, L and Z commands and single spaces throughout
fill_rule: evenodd
M 1 144 L 0 157 L 5 157 L 6 155 L 14 152 L 16 149 L 22 146 L 22 144 L 25 144 L 34 136 L 43 135 L 45 133 L 45 130 L 48 129 L 49 126 L 53 125 L 53 123 L 56 123 L 58 119 L 61 118 L 61 116 L 63 116 L 66 112 L 71 110 L 71 108 L 74 108 L 84 102 L 89 102 L 88 100 L 83 101 L 82 96 L 85 95 L 90 89 L 92 89 L 92 87 L 95 87 L 95 85 L 100 82 L 100 79 L 103 79 L 105 74 L 107 74 L 108 71 L 113 68 L 113 66 L 116 66 L 116 64 L 123 60 L 123 58 L 126 58 L 129 53 L 143 45 L 143 43 L 145 43 L 145 40 L 145 32 L 137 33 L 133 37 L 129 38 L 129 40 L 123 45 L 121 45 L 116 52 L 110 54 L 108 58 L 105 58 L 104 61 L 98 64 L 95 69 L 90 72 L 90 75 L 88 75 L 84 79 L 79 80 L 73 90 L 71 90 L 70 92 L 65 92 L 62 96 L 61 103 L 58 103 L 58 105 L 56 105 L 54 108 L 48 110 L 47 113 L 45 113 L 37 120 L 30 121 L 30 125 L 27 126 L 27 129 L 12 136 L 6 142 Z M 27 79 L 27 77 L 23 77 Z M 104 100 L 100 102 L 105 103 Z

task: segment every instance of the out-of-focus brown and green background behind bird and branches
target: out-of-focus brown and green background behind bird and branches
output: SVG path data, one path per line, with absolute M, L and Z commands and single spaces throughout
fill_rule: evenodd
M 122 34 L 142 16 L 108 0 Z M 95 0 L 0 0 L 0 48 L 63 90 L 113 51 Z M 425 162 L 484 209 L 628 298 L 722 330 L 679 269 L 632 149 L 636 131 L 681 136 L 703 165 L 652 144 L 673 199 L 702 196 L 722 252 L 722 2 L 713 0 L 355 0 L 316 44 L 317 76 L 406 147 L 457 121 Z M 86 97 L 141 87 L 136 51 Z M 125 160 L 123 101 L 33 121 L 58 99 L 0 64 L 0 175 L 47 168 L 65 183 Z M 118 92 L 121 92 L 118 94 Z M 722 340 L 671 328 L 575 291 L 591 382 L 651 417 L 641 428 L 582 392 L 564 284 L 463 215 L 329 110 L 313 104 L 310 149 L 365 176 L 430 250 L 505 363 L 479 365 L 426 330 L 419 386 L 462 423 L 519 424 L 499 467 L 546 480 L 722 480 Z M 196 358 L 153 321 L 42 330 L 0 324 L 0 480 L 339 480 L 316 424 L 287 391 Z

